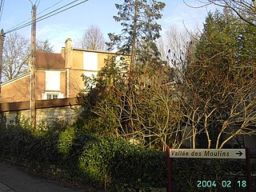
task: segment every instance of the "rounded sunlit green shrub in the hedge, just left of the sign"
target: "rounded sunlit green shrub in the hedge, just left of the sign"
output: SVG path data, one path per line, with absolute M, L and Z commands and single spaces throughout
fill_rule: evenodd
M 166 186 L 165 163 L 162 152 L 104 137 L 85 146 L 79 158 L 84 174 L 109 186 Z

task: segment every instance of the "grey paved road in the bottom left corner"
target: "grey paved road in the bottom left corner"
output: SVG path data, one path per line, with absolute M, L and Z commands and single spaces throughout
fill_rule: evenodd
M 59 186 L 53 181 L 28 174 L 17 166 L 0 162 L 0 192 L 85 192 Z

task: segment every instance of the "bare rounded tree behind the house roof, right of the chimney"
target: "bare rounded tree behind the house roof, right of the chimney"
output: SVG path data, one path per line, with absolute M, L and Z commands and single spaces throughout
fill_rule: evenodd
M 86 50 L 106 50 L 106 41 L 98 26 L 88 26 L 76 46 Z

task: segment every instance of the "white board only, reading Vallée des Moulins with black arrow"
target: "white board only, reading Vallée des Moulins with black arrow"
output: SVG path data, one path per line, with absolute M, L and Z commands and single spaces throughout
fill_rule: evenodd
M 170 149 L 170 158 L 246 158 L 246 150 Z

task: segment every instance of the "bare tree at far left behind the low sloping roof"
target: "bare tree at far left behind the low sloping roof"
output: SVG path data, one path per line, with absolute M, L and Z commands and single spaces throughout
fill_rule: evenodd
M 7 34 L 2 51 L 2 79 L 4 81 L 25 74 L 28 69 L 30 40 L 21 35 Z

